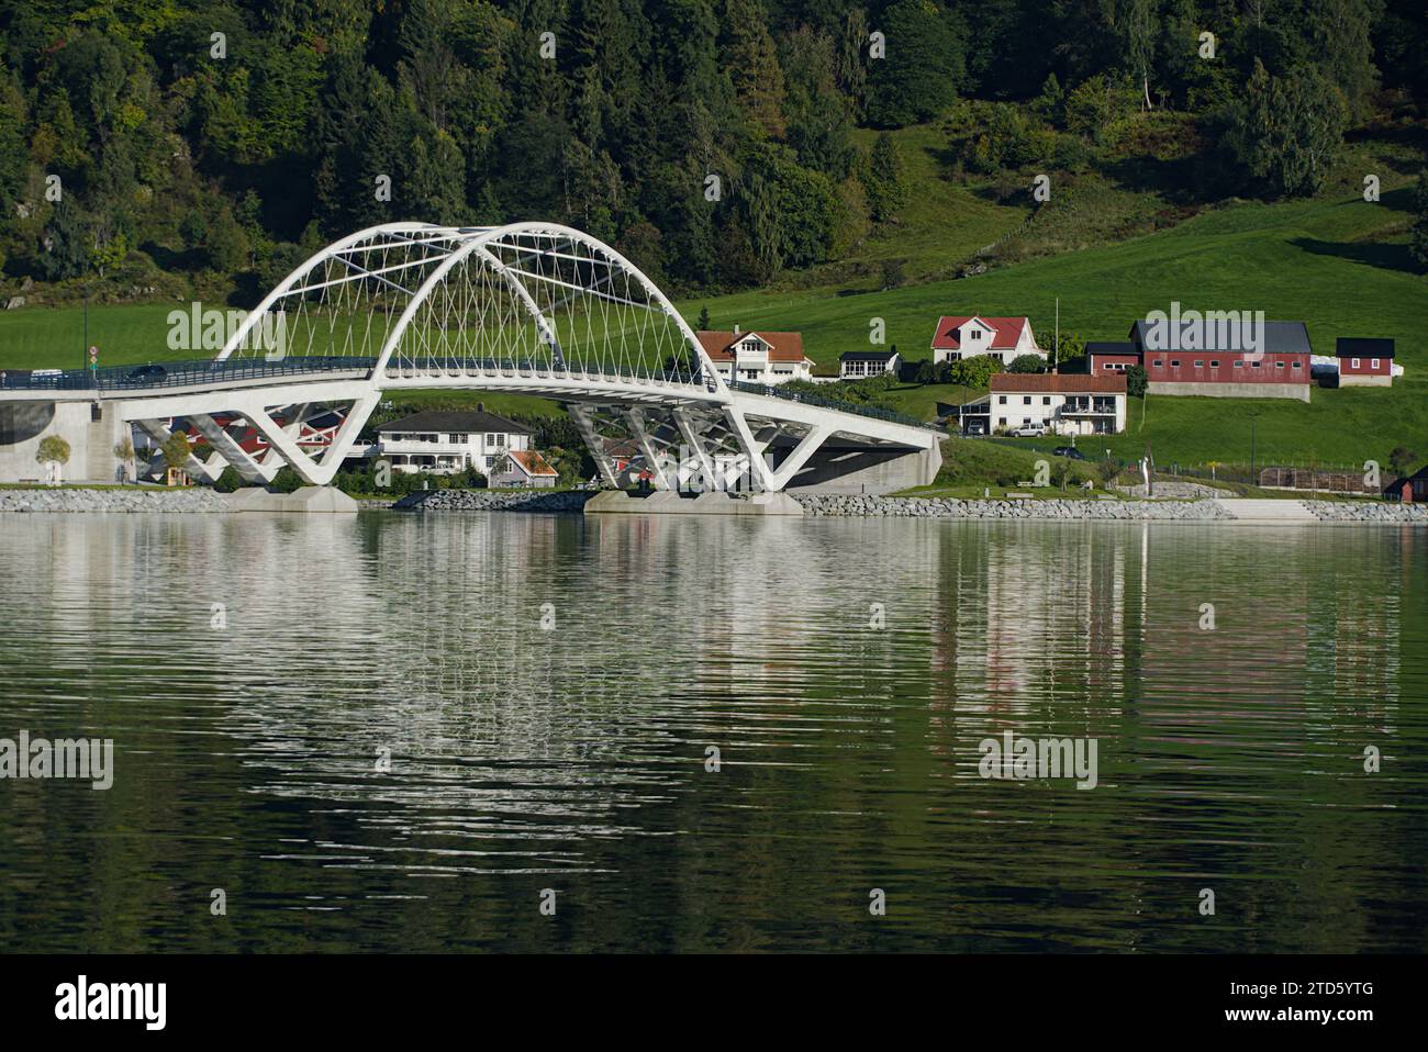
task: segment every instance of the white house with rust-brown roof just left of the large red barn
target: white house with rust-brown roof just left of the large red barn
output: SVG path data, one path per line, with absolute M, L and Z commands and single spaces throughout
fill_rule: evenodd
M 1125 375 L 997 373 L 985 397 L 962 405 L 961 421 L 974 434 L 1038 425 L 1058 435 L 1120 434 Z

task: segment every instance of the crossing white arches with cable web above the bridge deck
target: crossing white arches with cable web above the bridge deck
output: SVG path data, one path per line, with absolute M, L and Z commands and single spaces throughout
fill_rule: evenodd
M 216 360 L 257 355 L 370 358 L 378 388 L 404 367 L 506 361 L 730 397 L 638 267 L 553 223 L 387 223 L 340 238 L 268 293 Z

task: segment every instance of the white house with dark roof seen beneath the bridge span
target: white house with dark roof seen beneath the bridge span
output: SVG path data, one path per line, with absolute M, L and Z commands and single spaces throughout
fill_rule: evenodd
M 474 413 L 428 411 L 383 424 L 366 455 L 407 472 L 453 474 L 468 467 L 487 472 L 501 454 L 528 448 L 530 428 L 478 405 Z

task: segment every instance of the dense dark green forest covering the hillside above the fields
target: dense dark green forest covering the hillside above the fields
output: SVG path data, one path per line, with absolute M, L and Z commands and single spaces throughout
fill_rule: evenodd
M 373 223 L 548 218 L 674 290 L 747 287 L 902 206 L 891 140 L 855 128 L 958 98 L 1087 138 L 1117 106 L 1194 114 L 1217 191 L 1311 193 L 1347 130 L 1424 113 L 1424 7 L 3 0 L 0 267 L 241 303 Z M 1034 153 L 1015 133 L 982 163 Z

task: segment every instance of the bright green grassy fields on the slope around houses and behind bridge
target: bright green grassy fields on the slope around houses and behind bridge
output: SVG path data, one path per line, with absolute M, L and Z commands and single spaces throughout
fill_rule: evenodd
M 908 210 L 860 247 L 858 258 L 897 251 L 932 270 L 948 258 L 1024 221 L 1024 210 L 998 206 L 968 187 L 938 180 L 935 134 L 910 128 L 905 151 L 917 168 Z M 1407 375 L 1392 388 L 1314 388 L 1312 404 L 1278 400 L 1151 397 L 1131 407 L 1125 434 L 1092 440 L 1095 452 L 1134 460 L 1145 445 L 1160 464 L 1207 461 L 1247 464 L 1251 417 L 1261 464 L 1349 465 L 1408 444 L 1428 454 L 1428 281 L 1409 271 L 1409 190 L 1402 176 L 1378 203 L 1339 193 L 1281 204 L 1231 203 L 1170 230 L 1120 244 L 1091 247 L 960 280 L 887 291 L 861 291 L 863 277 L 801 290 L 765 290 L 680 303 L 688 320 L 707 307 L 718 328 L 793 328 L 824 370 L 843 351 L 867 348 L 874 325 L 907 360 L 930 357 L 941 314 L 1028 314 L 1048 344 L 1060 298 L 1061 330 L 1088 340 L 1124 338 L 1131 321 L 1172 301 L 1198 310 L 1262 310 L 1271 320 L 1308 323 L 1314 350 L 1331 354 L 1339 335 L 1389 337 Z M 1385 178 L 1385 187 L 1391 186 Z M 941 187 L 941 190 L 938 190 Z M 971 248 L 968 248 L 971 247 Z M 871 264 L 870 264 L 871 265 Z M 93 307 L 89 341 L 100 364 L 116 365 L 193 357 L 167 348 L 171 305 Z M 0 368 L 74 368 L 83 363 L 81 308 L 27 307 L 0 314 Z M 830 391 L 831 393 L 831 391 Z M 894 388 L 887 401 L 921 418 L 935 403 L 965 401 L 975 393 L 954 387 Z M 494 411 L 554 411 L 553 403 L 491 393 L 391 395 L 404 404 L 470 405 Z

